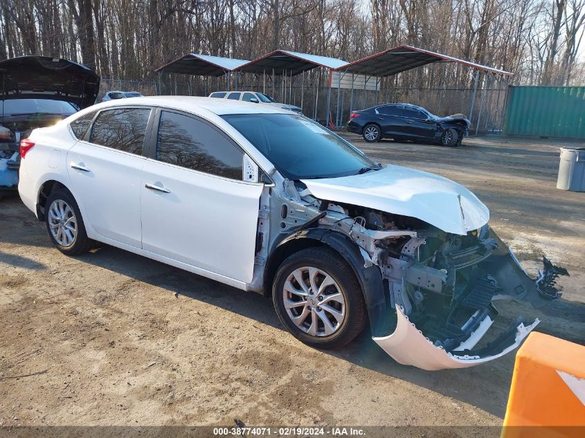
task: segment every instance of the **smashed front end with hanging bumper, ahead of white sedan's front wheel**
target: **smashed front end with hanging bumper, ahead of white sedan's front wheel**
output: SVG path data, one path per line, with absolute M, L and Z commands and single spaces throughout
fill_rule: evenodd
M 386 245 L 389 250 L 393 243 Z M 428 370 L 477 365 L 518 347 L 540 321 L 519 316 L 496 329 L 497 300 L 541 307 L 559 298 L 555 280 L 567 275 L 544 259 L 539 277 L 531 278 L 487 226 L 465 236 L 422 230 L 397 257 L 378 259 L 395 329 L 374 340 L 398 363 Z

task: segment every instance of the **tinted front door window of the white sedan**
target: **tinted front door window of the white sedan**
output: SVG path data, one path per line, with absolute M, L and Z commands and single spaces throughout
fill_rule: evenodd
M 201 120 L 168 111 L 161 113 L 157 160 L 241 180 L 243 158 L 226 136 Z

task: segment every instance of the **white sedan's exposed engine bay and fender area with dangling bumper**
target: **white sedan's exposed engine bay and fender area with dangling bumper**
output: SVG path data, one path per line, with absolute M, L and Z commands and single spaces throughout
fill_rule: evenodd
M 493 334 L 494 302 L 513 298 L 540 307 L 559 298 L 555 281 L 568 275 L 544 258 L 532 279 L 487 223 L 458 235 L 414 217 L 323 201 L 302 184 L 286 183 L 286 197 L 314 218 L 306 226 L 350 237 L 364 266 L 379 268 L 388 322 L 374 340 L 404 365 L 469 367 L 510 352 L 539 320 L 519 317 Z

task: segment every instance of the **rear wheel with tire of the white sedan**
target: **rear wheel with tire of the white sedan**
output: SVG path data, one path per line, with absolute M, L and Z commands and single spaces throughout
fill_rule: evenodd
M 45 204 L 45 224 L 48 236 L 62 253 L 78 255 L 91 248 L 81 212 L 68 190 L 53 190 Z

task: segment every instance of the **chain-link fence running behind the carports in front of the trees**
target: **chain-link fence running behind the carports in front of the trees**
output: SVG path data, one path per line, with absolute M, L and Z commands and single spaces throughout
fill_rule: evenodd
M 156 80 L 102 78 L 98 101 L 107 91 L 138 91 L 143 95 L 207 96 L 213 91 L 258 91 L 277 102 L 296 105 L 305 116 L 331 127 L 343 127 L 351 111 L 383 103 L 409 103 L 426 108 L 438 116 L 464 114 L 471 120 L 470 134 L 501 132 L 507 85 L 486 80 L 474 93 L 473 88 L 445 86 L 437 88 L 382 87 L 379 91 L 336 89 L 327 84 L 327 75 L 314 71 L 300 77 L 237 78 L 161 75 Z M 473 103 L 473 105 L 472 105 Z M 473 106 L 473 109 L 471 107 Z

